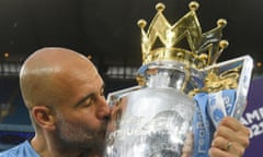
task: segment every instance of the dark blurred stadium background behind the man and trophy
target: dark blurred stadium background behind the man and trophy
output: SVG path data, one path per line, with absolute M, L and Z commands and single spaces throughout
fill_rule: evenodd
M 1 0 L 0 1 L 0 152 L 33 135 L 19 88 L 24 59 L 38 48 L 77 50 L 98 67 L 106 93 L 136 84 L 141 63 L 139 19 L 156 14 L 157 0 Z M 162 0 L 164 14 L 175 22 L 188 11 L 190 0 Z M 204 32 L 220 17 L 228 20 L 224 38 L 230 43 L 219 61 L 250 55 L 253 80 L 263 76 L 263 1 L 201 1 Z M 175 20 L 174 20 L 175 19 Z

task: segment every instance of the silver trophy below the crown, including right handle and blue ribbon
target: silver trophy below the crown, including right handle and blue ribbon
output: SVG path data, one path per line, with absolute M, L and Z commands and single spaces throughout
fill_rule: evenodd
M 144 85 L 111 93 L 106 157 L 207 156 L 220 119 L 245 108 L 253 60 L 249 56 L 196 71 L 170 61 L 139 69 Z M 221 94 L 229 93 L 230 94 Z M 220 97 L 209 104 L 203 95 Z M 210 96 L 211 95 L 211 96 Z M 210 122 L 209 122 L 210 121 Z

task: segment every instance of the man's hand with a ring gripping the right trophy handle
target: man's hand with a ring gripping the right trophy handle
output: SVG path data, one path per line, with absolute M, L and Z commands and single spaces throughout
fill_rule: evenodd
M 210 157 L 242 157 L 249 146 L 249 130 L 237 119 L 226 117 L 214 134 Z

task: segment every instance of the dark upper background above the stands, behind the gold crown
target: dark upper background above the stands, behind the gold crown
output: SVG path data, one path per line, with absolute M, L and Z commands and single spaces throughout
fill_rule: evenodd
M 0 59 L 23 61 L 38 48 L 71 48 L 103 71 L 110 65 L 139 67 L 139 19 L 148 23 L 157 0 L 0 0 Z M 188 11 L 190 0 L 162 0 L 171 23 Z M 219 61 L 251 55 L 263 62 L 263 1 L 203 0 L 197 11 L 203 32 L 228 21 L 224 38 L 230 46 Z M 9 59 L 3 55 L 9 52 Z M 256 67 L 258 68 L 258 67 Z M 262 68 L 261 68 L 262 69 Z M 258 71 L 255 71 L 258 72 Z

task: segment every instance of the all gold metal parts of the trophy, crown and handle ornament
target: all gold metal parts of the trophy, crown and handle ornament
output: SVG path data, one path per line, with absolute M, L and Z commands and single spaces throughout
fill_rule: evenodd
M 199 4 L 192 1 L 188 8 L 190 11 L 173 25 L 163 15 L 165 9 L 163 3 L 156 5 L 157 14 L 151 21 L 148 31 L 145 31 L 147 22 L 145 20 L 138 21 L 138 26 L 141 29 L 142 64 L 158 61 L 175 61 L 184 64 L 187 69 L 193 68 L 197 71 L 216 64 L 217 59 L 229 45 L 227 40 L 221 39 L 221 32 L 227 25 L 227 21 L 219 19 L 217 27 L 203 33 L 196 15 Z M 188 49 L 181 46 L 181 43 L 185 39 Z M 161 46 L 158 41 L 161 43 Z M 242 67 L 239 67 L 224 72 L 211 69 L 204 77 L 204 87 L 195 88 L 188 95 L 193 96 L 199 92 L 210 93 L 237 88 L 241 69 Z M 185 73 L 190 74 L 191 72 L 186 70 Z M 137 76 L 137 80 L 140 85 L 145 84 L 144 77 Z

